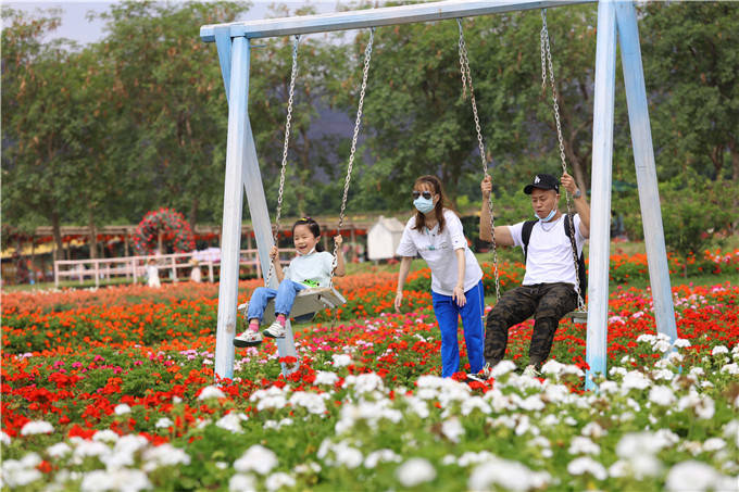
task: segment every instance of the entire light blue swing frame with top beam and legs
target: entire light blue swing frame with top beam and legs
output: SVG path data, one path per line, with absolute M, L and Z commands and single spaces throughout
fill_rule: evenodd
M 270 213 L 264 197 L 262 175 L 259 168 L 256 148 L 249 121 L 250 40 L 275 36 L 442 21 L 519 10 L 564 7 L 576 3 L 589 3 L 589 1 L 452 0 L 323 15 L 205 25 L 201 27 L 200 36 L 202 40 L 206 42 L 214 41 L 216 43 L 221 73 L 228 98 L 226 179 L 215 349 L 216 378 L 233 378 L 234 376 L 238 257 L 245 191 L 249 203 L 256 247 L 259 248 L 262 272 L 268 272 L 270 269 L 268 252 L 273 245 Z M 586 348 L 586 362 L 590 368 L 587 371 L 586 378 L 587 389 L 594 387 L 592 378 L 596 375 L 606 375 L 609 226 L 611 220 L 616 38 L 618 38 L 622 51 L 631 144 L 634 147 L 634 160 L 639 187 L 639 201 L 641 204 L 656 328 L 659 332 L 667 335 L 672 341 L 677 339 L 636 9 L 631 1 L 601 0 L 598 5 L 592 135 L 590 281 L 588 285 Z M 272 281 L 274 283 L 276 279 L 273 278 Z M 288 336 L 284 340 L 278 341 L 277 348 L 280 357 L 296 356 L 292 331 L 289 327 Z M 290 367 L 283 365 L 285 374 L 290 370 Z

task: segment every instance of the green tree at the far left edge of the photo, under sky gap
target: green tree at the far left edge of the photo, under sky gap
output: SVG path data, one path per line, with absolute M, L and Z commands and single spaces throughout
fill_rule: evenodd
M 41 41 L 59 25 L 58 13 L 2 11 L 2 209 L 16 225 L 48 220 L 59 252 L 61 222 L 74 200 L 76 113 L 67 80 L 78 73 L 68 63 L 68 41 Z

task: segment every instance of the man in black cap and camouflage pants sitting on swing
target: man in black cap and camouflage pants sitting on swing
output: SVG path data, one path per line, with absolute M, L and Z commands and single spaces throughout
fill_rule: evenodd
M 562 186 L 572 194 L 576 214 L 573 217 L 577 257 L 590 235 L 590 205 L 575 179 L 567 173 L 562 175 Z M 480 213 L 480 239 L 491 241 L 490 192 L 492 180 L 486 176 Z M 569 220 L 558 209 L 560 182 L 550 174 L 538 174 L 534 182 L 524 188 L 531 195 L 536 220 L 521 222 L 513 226 L 496 227 L 496 244 L 521 247 L 526 257 L 526 275 L 521 286 L 503 294 L 488 314 L 485 329 L 485 361 L 476 379 L 489 379 L 492 368 L 505 356 L 508 330 L 513 325 L 534 316 L 534 333 L 529 348 L 529 361 L 524 374 L 535 376 L 549 356 L 554 332 L 568 312 L 578 305 L 579 281 L 568 236 Z M 565 225 L 565 223 L 567 223 Z M 533 225 L 533 227 L 531 227 Z M 525 228 L 528 231 L 524 230 Z M 528 241 L 526 240 L 528 236 Z M 583 289 L 585 290 L 585 289 Z M 583 299 L 585 294 L 583 294 Z

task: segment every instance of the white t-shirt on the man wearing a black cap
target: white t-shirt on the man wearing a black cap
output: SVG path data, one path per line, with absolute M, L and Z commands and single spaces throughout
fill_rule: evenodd
M 540 220 L 534 224 L 531 237 L 528 240 L 526 275 L 524 275 L 522 285 L 566 282 L 575 286 L 575 290 L 577 290 L 573 247 L 569 238 L 564 234 L 565 217 L 566 215 L 562 214 L 556 220 L 546 223 L 543 226 Z M 576 230 L 577 257 L 583 252 L 583 244 L 586 239 L 580 232 L 580 222 L 579 214 L 575 214 L 573 224 Z M 513 244 L 523 248 L 521 234 L 524 223 L 521 222 L 509 226 L 509 228 Z

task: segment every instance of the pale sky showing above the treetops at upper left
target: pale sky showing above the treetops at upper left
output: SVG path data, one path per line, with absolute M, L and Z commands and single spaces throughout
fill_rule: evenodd
M 103 23 L 101 21 L 89 22 L 87 20 L 87 13 L 89 11 L 104 12 L 113 1 L 79 1 L 79 0 L 67 0 L 65 2 L 57 1 L 5 1 L 2 0 L 3 5 L 8 5 L 12 9 L 24 10 L 29 13 L 35 12 L 38 9 L 46 10 L 51 8 L 62 9 L 64 12 L 62 14 L 61 26 L 50 35 L 50 38 L 67 38 L 74 39 L 79 43 L 95 42 L 102 39 Z M 318 13 L 334 12 L 337 9 L 337 0 L 252 0 L 252 8 L 249 12 L 240 18 L 240 21 L 252 21 L 272 16 L 270 15 L 270 7 L 275 3 L 280 3 L 288 5 L 290 9 L 297 9 L 299 7 L 311 4 L 316 9 Z M 345 4 L 347 1 L 343 2 Z

